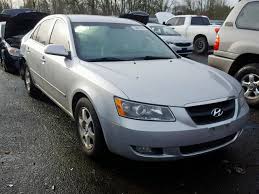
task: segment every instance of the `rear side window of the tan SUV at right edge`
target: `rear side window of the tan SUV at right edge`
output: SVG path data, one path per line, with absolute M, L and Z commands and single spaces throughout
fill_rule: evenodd
M 259 2 L 246 4 L 237 17 L 236 26 L 242 29 L 259 30 Z

